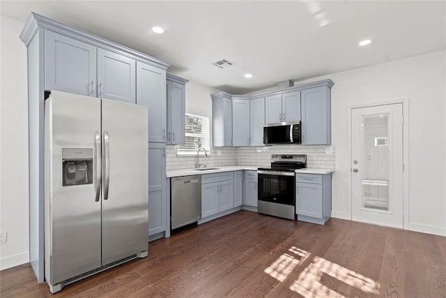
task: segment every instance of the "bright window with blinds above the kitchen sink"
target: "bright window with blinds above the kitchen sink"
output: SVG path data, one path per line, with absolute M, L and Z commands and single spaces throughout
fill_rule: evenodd
M 185 121 L 186 142 L 178 145 L 178 156 L 196 155 L 200 147 L 210 154 L 209 117 L 186 113 Z

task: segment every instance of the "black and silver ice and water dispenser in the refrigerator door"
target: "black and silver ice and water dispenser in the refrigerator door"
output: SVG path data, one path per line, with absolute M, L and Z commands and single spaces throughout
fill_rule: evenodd
M 93 149 L 63 148 L 62 186 L 93 184 Z

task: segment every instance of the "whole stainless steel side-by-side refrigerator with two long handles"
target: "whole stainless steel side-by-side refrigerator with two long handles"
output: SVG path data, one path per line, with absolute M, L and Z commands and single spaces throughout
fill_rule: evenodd
M 52 91 L 45 100 L 45 279 L 51 292 L 144 258 L 146 107 Z

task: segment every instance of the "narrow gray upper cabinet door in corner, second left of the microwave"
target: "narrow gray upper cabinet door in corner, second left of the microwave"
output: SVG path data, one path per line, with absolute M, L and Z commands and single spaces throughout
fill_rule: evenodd
M 249 146 L 249 100 L 232 100 L 232 145 Z

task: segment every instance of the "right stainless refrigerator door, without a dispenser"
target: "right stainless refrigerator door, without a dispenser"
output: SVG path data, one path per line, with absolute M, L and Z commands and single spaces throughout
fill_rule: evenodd
M 102 265 L 147 251 L 147 127 L 146 107 L 102 99 Z

